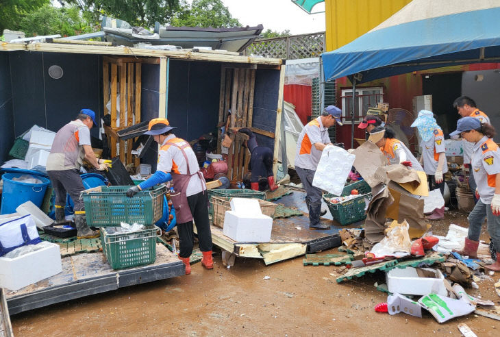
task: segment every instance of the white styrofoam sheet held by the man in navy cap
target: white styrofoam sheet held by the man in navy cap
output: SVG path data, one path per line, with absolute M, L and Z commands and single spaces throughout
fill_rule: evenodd
M 321 153 L 312 186 L 327 190 L 334 195 L 341 195 L 355 158 L 355 155 L 345 149 L 327 145 Z

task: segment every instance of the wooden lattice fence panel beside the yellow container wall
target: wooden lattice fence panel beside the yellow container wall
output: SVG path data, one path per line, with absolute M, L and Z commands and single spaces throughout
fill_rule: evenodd
M 247 49 L 247 55 L 261 55 L 265 58 L 317 58 L 325 48 L 325 32 L 292 35 L 283 38 L 256 40 Z

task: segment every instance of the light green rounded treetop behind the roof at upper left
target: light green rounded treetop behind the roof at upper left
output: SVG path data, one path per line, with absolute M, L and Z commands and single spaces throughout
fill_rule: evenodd
M 21 19 L 21 27 L 26 36 L 53 35 L 73 36 L 92 32 L 76 6 L 55 8 L 45 5 Z

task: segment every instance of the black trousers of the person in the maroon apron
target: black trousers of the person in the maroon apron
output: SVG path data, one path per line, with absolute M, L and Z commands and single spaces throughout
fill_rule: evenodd
M 212 232 L 208 222 L 208 192 L 205 190 L 196 195 L 188 197 L 188 205 L 192 218 L 198 230 L 199 249 L 201 251 L 212 250 Z M 189 258 L 192 253 L 192 221 L 187 223 L 177 223 L 177 233 L 179 234 L 179 256 Z

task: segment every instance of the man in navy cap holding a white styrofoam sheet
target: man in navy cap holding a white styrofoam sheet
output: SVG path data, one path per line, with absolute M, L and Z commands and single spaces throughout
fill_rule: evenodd
M 302 129 L 297 141 L 295 154 L 295 171 L 299 175 L 302 186 L 307 192 L 305 203 L 309 210 L 310 229 L 329 229 L 329 225 L 320 222 L 321 197 L 323 191 L 312 186 L 312 179 L 321 158 L 321 151 L 327 145 L 333 145 L 328 136 L 328 128 L 340 123 L 342 110 L 334 105 L 328 105 L 318 118 L 314 118 Z

